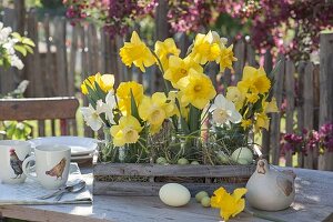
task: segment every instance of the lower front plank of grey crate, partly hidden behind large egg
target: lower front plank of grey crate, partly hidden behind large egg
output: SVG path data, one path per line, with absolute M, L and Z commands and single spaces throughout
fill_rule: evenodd
M 165 182 L 167 183 L 167 182 Z M 165 183 L 150 182 L 93 182 L 93 194 L 95 195 L 159 195 L 159 190 Z M 200 191 L 206 191 L 210 194 L 214 190 L 223 186 L 228 191 L 235 188 L 244 188 L 245 183 L 181 183 L 189 189 L 192 195 Z

